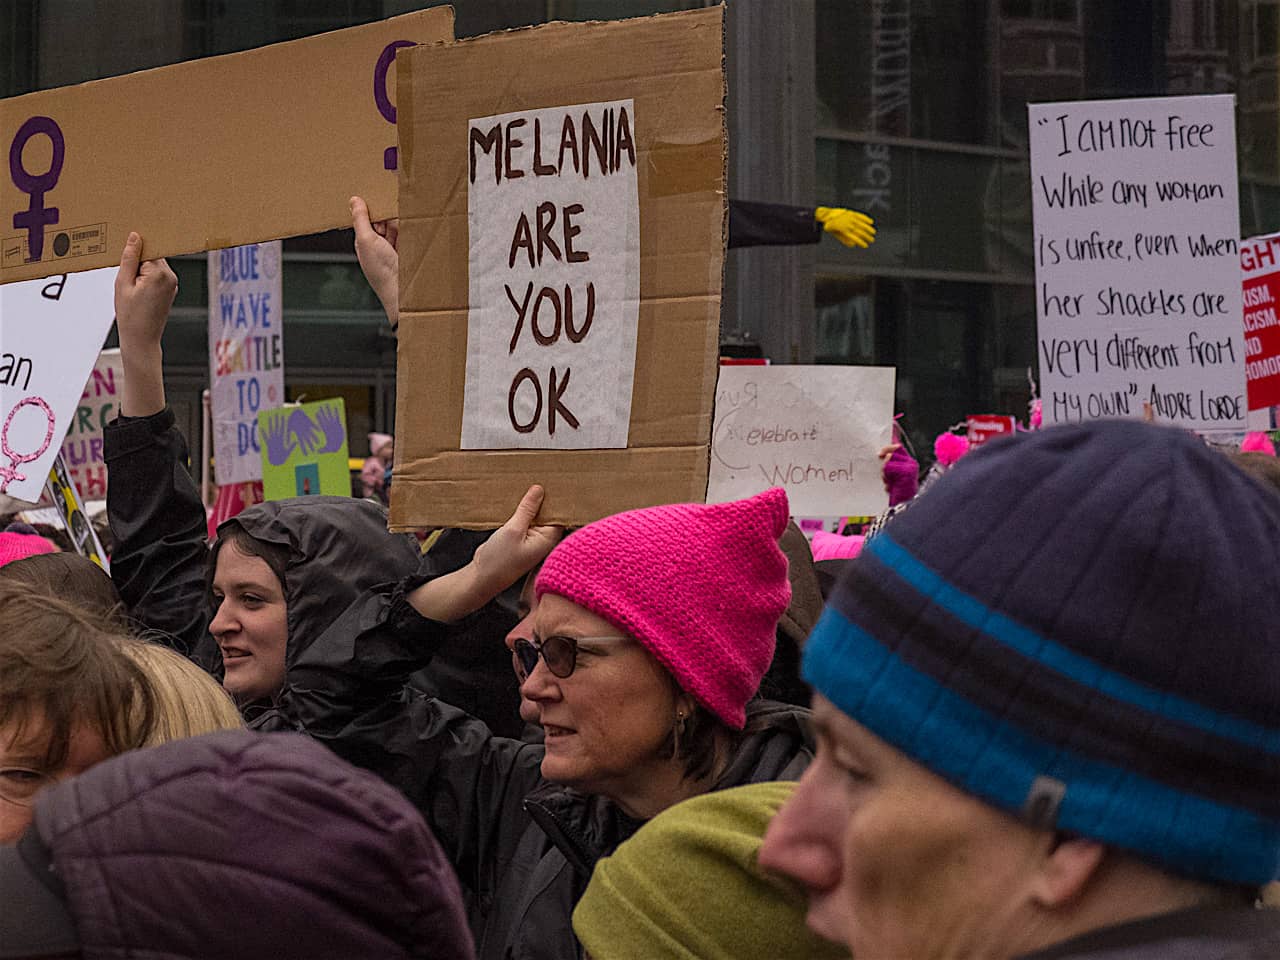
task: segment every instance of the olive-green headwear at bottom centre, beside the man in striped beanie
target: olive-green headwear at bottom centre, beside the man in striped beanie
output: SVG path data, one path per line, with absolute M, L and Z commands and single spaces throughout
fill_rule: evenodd
M 663 810 L 598 861 L 573 910 L 593 960 L 824 960 L 844 947 L 805 927 L 805 897 L 756 865 L 795 783 L 751 783 Z

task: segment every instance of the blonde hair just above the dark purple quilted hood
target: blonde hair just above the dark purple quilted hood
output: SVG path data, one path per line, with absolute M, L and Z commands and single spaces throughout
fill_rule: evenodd
M 124 652 L 146 675 L 155 698 L 155 718 L 143 746 L 244 726 L 230 695 L 180 653 L 133 639 L 125 641 Z

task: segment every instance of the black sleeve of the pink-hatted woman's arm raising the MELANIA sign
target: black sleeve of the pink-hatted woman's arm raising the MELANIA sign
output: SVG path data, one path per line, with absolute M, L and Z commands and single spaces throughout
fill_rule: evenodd
M 425 575 L 365 593 L 288 664 L 276 716 L 255 726 L 302 731 L 372 771 L 421 810 L 458 876 L 492 893 L 529 824 L 525 795 L 541 782 L 541 745 L 494 736 L 442 700 L 406 690 L 447 644 L 407 593 Z

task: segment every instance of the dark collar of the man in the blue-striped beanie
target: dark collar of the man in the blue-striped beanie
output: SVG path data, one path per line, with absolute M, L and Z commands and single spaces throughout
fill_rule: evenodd
M 1280 910 L 1212 908 L 1106 927 L 1023 960 L 1276 960 Z

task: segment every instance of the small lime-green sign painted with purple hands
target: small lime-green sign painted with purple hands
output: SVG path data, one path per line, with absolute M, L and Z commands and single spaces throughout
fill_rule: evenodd
M 262 495 L 268 500 L 351 495 L 347 407 L 342 397 L 257 415 Z

